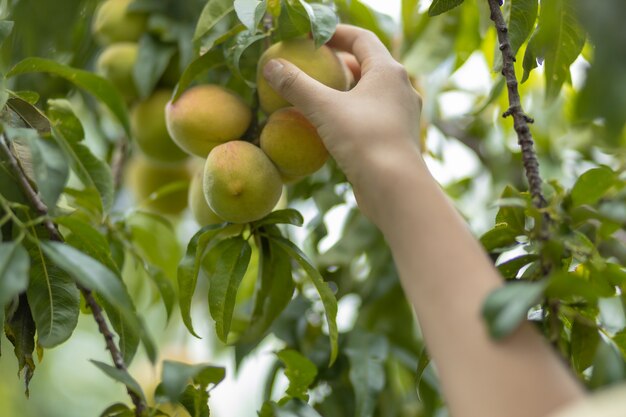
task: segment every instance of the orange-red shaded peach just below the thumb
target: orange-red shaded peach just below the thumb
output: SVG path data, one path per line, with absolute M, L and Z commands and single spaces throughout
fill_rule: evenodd
M 261 149 L 286 182 L 314 173 L 328 159 L 315 126 L 295 107 L 272 113 L 261 132 Z

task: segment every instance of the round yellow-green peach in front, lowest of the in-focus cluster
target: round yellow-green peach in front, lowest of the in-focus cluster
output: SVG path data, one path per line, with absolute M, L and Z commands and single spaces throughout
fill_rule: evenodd
M 231 141 L 211 151 L 204 167 L 204 196 L 213 211 L 231 223 L 269 214 L 282 192 L 280 174 L 263 151 Z

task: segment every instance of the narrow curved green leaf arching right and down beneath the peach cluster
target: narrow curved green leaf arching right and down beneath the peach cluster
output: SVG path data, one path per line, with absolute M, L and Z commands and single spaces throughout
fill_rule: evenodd
M 338 353 L 339 332 L 337 330 L 337 299 L 319 271 L 296 245 L 281 236 L 271 236 L 271 239 L 300 265 L 317 289 L 317 293 L 324 305 L 326 320 L 328 322 L 330 365 L 332 365 L 335 359 L 337 359 Z

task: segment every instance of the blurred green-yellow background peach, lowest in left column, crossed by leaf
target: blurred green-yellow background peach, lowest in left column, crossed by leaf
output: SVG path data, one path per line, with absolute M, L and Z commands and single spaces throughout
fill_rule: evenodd
M 187 164 L 163 165 L 144 156 L 130 161 L 127 173 L 128 185 L 137 203 L 161 214 L 176 215 L 187 207 L 187 193 L 191 174 Z M 184 184 L 177 188 L 175 183 Z M 174 190 L 150 200 L 153 193 L 171 185 Z

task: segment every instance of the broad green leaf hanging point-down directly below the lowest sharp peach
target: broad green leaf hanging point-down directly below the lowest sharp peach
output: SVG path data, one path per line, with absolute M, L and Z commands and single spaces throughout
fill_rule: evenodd
M 239 284 L 248 269 L 252 249 L 242 237 L 221 241 L 202 261 L 209 277 L 209 311 L 217 336 L 227 342 Z M 216 259 L 217 258 L 217 259 Z

